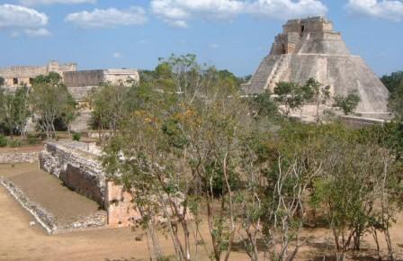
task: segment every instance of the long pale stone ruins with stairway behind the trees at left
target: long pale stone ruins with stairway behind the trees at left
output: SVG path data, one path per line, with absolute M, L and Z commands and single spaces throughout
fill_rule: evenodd
M 0 68 L 0 76 L 4 77 L 6 90 L 13 92 L 20 85 L 31 86 L 36 76 L 57 72 L 63 78 L 69 92 L 73 95 L 80 108 L 80 115 L 71 125 L 71 130 L 88 130 L 91 111 L 87 106 L 88 95 L 93 89 L 104 83 L 112 85 L 132 85 L 139 82 L 139 72 L 136 69 L 101 69 L 77 71 L 76 63 L 59 64 L 50 61 L 46 66 L 15 66 Z M 29 129 L 32 129 L 30 121 Z

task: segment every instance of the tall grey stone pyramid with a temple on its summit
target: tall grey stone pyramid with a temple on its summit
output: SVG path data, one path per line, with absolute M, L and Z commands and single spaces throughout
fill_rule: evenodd
M 357 112 L 387 112 L 389 92 L 363 58 L 350 53 L 340 32 L 324 17 L 290 20 L 275 37 L 273 47 L 251 80 L 246 94 L 273 93 L 279 82 L 305 83 L 315 78 L 330 85 L 332 94 L 359 94 Z

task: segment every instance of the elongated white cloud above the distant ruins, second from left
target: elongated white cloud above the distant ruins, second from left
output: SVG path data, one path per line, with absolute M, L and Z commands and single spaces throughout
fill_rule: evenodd
M 148 19 L 143 8 L 131 6 L 124 10 L 109 8 L 95 9 L 92 12 L 83 11 L 68 14 L 65 21 L 68 23 L 76 23 L 76 25 L 82 28 L 114 28 L 121 25 L 144 24 Z

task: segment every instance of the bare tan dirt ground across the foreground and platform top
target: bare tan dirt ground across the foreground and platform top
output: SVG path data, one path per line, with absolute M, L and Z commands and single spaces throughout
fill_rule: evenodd
M 37 164 L 22 164 L 15 167 L 0 165 L 0 175 L 19 180 L 20 184 L 26 186 L 27 192 L 30 187 L 40 187 L 43 193 L 38 195 L 43 203 L 48 202 L 49 207 L 62 214 L 74 214 L 76 211 L 88 211 L 82 206 L 94 210 L 94 204 L 85 202 L 82 199 L 67 201 L 72 193 L 65 187 L 60 186 L 58 181 L 52 180 L 52 176 L 38 172 Z M 39 175 L 40 174 L 40 175 Z M 42 176 L 39 177 L 38 176 Z M 23 180 L 25 177 L 26 180 Z M 38 178 L 39 180 L 35 180 Z M 42 179 L 42 180 L 40 180 Z M 61 187 L 58 196 L 52 196 L 54 187 Z M 67 190 L 63 192 L 63 190 Z M 48 192 L 46 192 L 48 191 Z M 66 194 L 65 194 L 66 193 Z M 63 195 L 65 194 L 65 195 Z M 61 197 L 59 197 L 59 195 Z M 67 196 L 66 198 L 64 198 Z M 77 195 L 78 197 L 81 197 Z M 75 197 L 75 196 L 73 196 Z M 78 203 L 76 203 L 78 202 Z M 88 203 L 88 204 L 87 204 Z M 58 208 L 65 207 L 66 210 Z M 80 205 L 77 209 L 76 206 Z M 11 195 L 0 185 L 0 260 L 149 260 L 147 240 L 136 241 L 136 237 L 142 234 L 140 229 L 102 229 L 91 231 L 79 231 L 56 236 L 49 236 L 38 225 L 30 226 L 33 220 L 31 215 L 22 209 Z M 70 209 L 70 210 L 67 210 Z M 72 210 L 71 210 L 72 209 Z M 202 232 L 204 238 L 208 238 L 208 229 L 203 225 Z M 305 247 L 300 249 L 298 260 L 334 260 L 332 256 L 333 241 L 331 233 L 327 229 L 311 229 L 302 235 L 308 238 Z M 400 217 L 398 224 L 392 230 L 392 237 L 395 243 L 395 250 L 399 260 L 403 260 L 403 217 Z M 173 254 L 173 247 L 168 238 L 161 235 L 161 247 L 166 255 Z M 202 248 L 202 247 L 201 247 Z M 361 256 L 349 260 L 377 260 L 374 259 L 375 247 L 372 238 L 367 237 L 363 241 L 363 253 Z M 203 253 L 198 261 L 209 260 L 203 249 Z M 325 258 L 324 258 L 325 257 Z M 243 246 L 237 243 L 231 253 L 230 260 L 248 260 Z

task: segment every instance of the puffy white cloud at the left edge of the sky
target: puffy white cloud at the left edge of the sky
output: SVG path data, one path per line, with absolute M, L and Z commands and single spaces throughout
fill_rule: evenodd
M 46 14 L 21 5 L 0 5 L 0 29 L 11 30 L 12 37 L 20 31 L 30 36 L 49 36 L 50 32 L 44 29 L 49 18 Z

